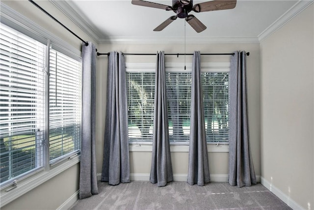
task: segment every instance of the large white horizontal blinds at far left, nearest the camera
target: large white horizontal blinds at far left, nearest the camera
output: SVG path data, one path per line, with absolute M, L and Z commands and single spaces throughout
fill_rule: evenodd
M 1 183 L 43 166 L 45 54 L 45 45 L 0 24 Z

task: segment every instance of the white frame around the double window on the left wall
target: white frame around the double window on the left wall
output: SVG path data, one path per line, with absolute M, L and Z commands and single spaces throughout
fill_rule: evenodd
M 50 45 L 49 43 L 52 43 L 55 50 L 71 57 L 72 59 L 81 61 L 80 50 L 63 41 L 48 30 L 43 29 L 41 26 L 35 24 L 2 2 L 0 2 L 0 22 L 45 45 Z M 46 147 L 46 149 L 49 150 L 49 147 Z M 49 152 L 46 154 L 49 154 Z M 5 185 L 1 185 L 0 208 L 14 201 L 18 197 L 24 195 L 40 184 L 52 179 L 70 167 L 78 164 L 80 162 L 80 153 L 75 152 L 65 155 L 63 158 L 53 163 L 50 163 L 49 157 L 45 156 L 44 161 L 44 168 L 35 171 L 29 171 L 26 176 L 23 176 L 18 180 L 12 179 L 10 182 L 5 183 Z

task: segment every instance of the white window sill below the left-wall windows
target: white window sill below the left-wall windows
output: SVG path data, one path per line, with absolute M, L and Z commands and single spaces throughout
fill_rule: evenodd
M 25 193 L 29 192 L 40 184 L 52 179 L 53 177 L 67 170 L 68 168 L 74 166 L 79 161 L 80 155 L 75 156 L 72 159 L 68 159 L 65 163 L 51 169 L 50 171 L 41 171 L 25 180 L 18 181 L 17 186 L 7 192 L 5 192 L 5 190 L 8 189 L 10 186 L 1 189 L 0 208 L 14 201 L 18 197 L 24 195 Z

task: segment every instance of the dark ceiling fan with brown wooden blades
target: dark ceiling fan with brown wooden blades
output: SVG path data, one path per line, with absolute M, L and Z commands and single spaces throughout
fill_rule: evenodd
M 193 5 L 193 0 L 172 0 L 172 6 L 154 3 L 146 0 L 132 0 L 132 4 L 139 6 L 147 6 L 158 9 L 164 9 L 167 11 L 174 11 L 176 15 L 171 16 L 165 20 L 162 24 L 157 26 L 154 31 L 160 31 L 166 28 L 174 20 L 179 18 L 185 18 L 185 21 L 194 29 L 196 32 L 202 32 L 206 29 L 206 26 L 197 19 L 194 15 L 189 15 L 190 11 L 194 12 L 208 12 L 223 9 L 233 9 L 236 5 L 236 0 L 211 0 Z

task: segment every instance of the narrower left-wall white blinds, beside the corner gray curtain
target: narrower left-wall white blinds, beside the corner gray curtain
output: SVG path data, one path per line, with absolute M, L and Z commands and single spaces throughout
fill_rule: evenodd
M 81 63 L 50 51 L 50 160 L 80 149 Z

